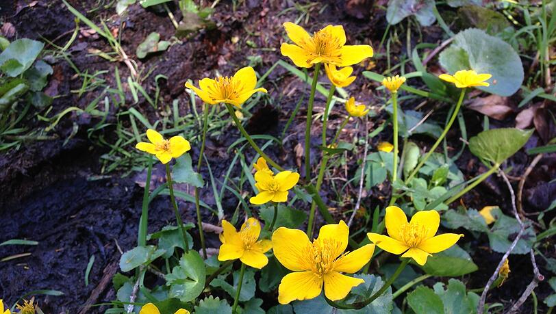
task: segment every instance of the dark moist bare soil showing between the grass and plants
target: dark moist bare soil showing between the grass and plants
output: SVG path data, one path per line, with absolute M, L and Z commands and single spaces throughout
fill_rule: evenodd
M 10 22 L 14 25 L 16 33 L 10 40 L 15 38 L 34 38 L 40 36 L 49 40 L 55 40 L 56 44 L 63 45 L 75 27 L 73 15 L 68 12 L 61 1 L 0 1 L 2 8 L 1 21 Z M 103 4 L 110 1 L 69 1 L 71 5 L 80 12 L 96 9 L 87 14 L 92 21 L 98 22 L 102 18 L 107 21 L 109 27 L 119 25 L 119 18 L 115 15 L 113 7 L 103 8 Z M 171 103 L 173 99 L 188 99 L 184 92 L 186 79 L 197 80 L 199 77 L 212 76 L 215 69 L 220 73 L 232 73 L 237 68 L 246 64 L 249 55 L 261 55 L 263 64 L 257 68 L 259 73 L 264 73 L 272 66 L 280 55 L 277 51 L 264 51 L 251 49 L 247 46 L 231 44 L 231 38 L 249 38 L 257 47 L 277 48 L 283 40 L 281 23 L 293 21 L 300 12 L 291 10 L 286 14 L 278 15 L 279 12 L 288 8 L 288 1 L 245 1 L 236 12 L 231 10 L 231 1 L 221 1 L 216 5 L 214 21 L 218 27 L 215 30 L 201 31 L 199 34 L 184 40 L 181 44 L 175 44 L 165 53 L 153 55 L 139 62 L 139 66 L 145 69 L 153 69 L 153 73 L 144 85 L 147 91 L 153 92 L 155 88 L 154 77 L 163 74 L 168 81 L 161 80 L 161 97 L 164 103 Z M 298 1 L 299 2 L 299 1 Z M 303 2 L 303 1 L 301 1 Z M 386 29 L 386 18 L 384 11 L 375 9 L 366 14 L 368 10 L 357 7 L 357 3 L 372 1 L 325 1 L 327 7 L 320 14 L 318 11 L 322 5 L 316 5 L 310 10 L 309 28 L 317 29 L 327 24 L 342 24 L 349 34 L 350 42 L 371 43 L 377 45 L 381 40 L 383 31 Z M 384 4 L 386 1 L 377 1 Z M 355 3 L 355 4 L 354 4 Z M 368 7 L 367 7 L 368 8 Z M 181 18 L 179 10 L 174 10 L 176 18 Z M 152 10 L 144 10 L 140 5 L 133 5 L 129 9 L 129 15 L 125 18 L 126 27 L 123 30 L 123 48 L 134 57 L 136 46 L 151 31 L 157 31 L 164 39 L 173 35 L 173 26 L 165 14 L 158 14 Z M 81 27 L 84 27 L 82 25 Z M 247 32 L 249 31 L 249 33 Z M 249 36 L 257 34 L 257 36 Z M 442 40 L 442 31 L 438 27 L 425 27 L 422 29 L 422 40 L 424 42 L 438 42 Z M 418 38 L 414 36 L 413 38 Z M 412 46 L 418 42 L 412 42 Z M 51 48 L 51 47 L 50 47 Z M 101 49 L 108 51 L 107 43 L 98 36 L 79 36 L 69 50 L 71 60 L 81 69 L 107 70 L 108 74 L 103 76 L 108 83 L 114 82 L 114 67 L 118 66 L 121 77 L 127 77 L 129 71 L 124 64 L 110 63 L 99 57 L 89 55 L 88 49 Z M 403 44 L 392 44 L 392 55 L 405 53 L 405 42 Z M 384 68 L 385 57 L 374 60 L 378 68 Z M 395 57 L 392 62 L 396 62 Z M 77 90 L 81 82 L 73 78 L 73 70 L 63 59 L 53 60 L 55 74 L 53 81 L 57 82 L 55 89 L 62 95 L 55 99 L 52 113 L 61 112 L 66 107 L 77 106 L 84 108 L 96 96 L 98 91 L 86 93 L 80 98 L 70 90 Z M 413 69 L 407 69 L 413 70 Z M 361 70 L 357 70 L 361 71 Z M 280 135 L 290 112 L 298 101 L 298 95 L 305 86 L 294 77 L 284 77 L 285 70 L 277 68 L 269 77 L 277 82 L 277 88 L 266 86 L 276 103 L 260 106 L 254 109 L 253 118 L 249 121 L 247 128 L 251 133 L 266 133 Z M 51 85 L 49 88 L 53 88 Z M 269 84 L 270 85 L 270 84 Z M 376 83 L 359 78 L 356 83 L 347 88 L 348 92 L 358 96 L 362 101 L 378 108 L 383 101 L 380 95 L 374 93 Z M 282 95 L 286 96 L 282 96 Z M 131 104 L 131 95 L 126 95 L 127 103 Z M 322 112 L 325 99 L 318 95 L 315 111 Z M 186 101 L 180 101 L 180 111 L 188 112 L 189 108 L 184 105 Z M 417 104 L 405 104 L 414 107 Z M 146 102 L 140 101 L 134 105 L 142 114 L 152 121 L 160 118 L 160 113 Z M 299 167 L 304 173 L 302 162 L 296 158 L 295 147 L 303 143 L 305 131 L 305 106 L 294 120 L 288 131 L 288 138 L 282 148 L 273 148 L 270 155 L 278 157 L 280 163 L 285 167 Z M 341 122 L 342 115 L 340 107 L 331 112 L 329 131 L 336 129 Z M 114 119 L 115 111 L 110 113 L 109 119 Z M 444 121 L 445 112 L 433 116 L 435 120 Z M 270 118 L 269 118 L 270 117 Z M 372 118 L 368 124 L 369 129 L 375 128 L 387 117 L 385 112 L 379 113 Z M 468 136 L 475 135 L 482 128 L 482 116 L 476 112 L 466 112 L 468 122 Z M 0 297 L 8 304 L 16 302 L 25 293 L 40 289 L 54 289 L 64 292 L 63 296 L 38 296 L 40 306 L 45 313 L 78 313 L 87 302 L 101 303 L 110 302 L 115 299 L 115 291 L 112 288 L 111 274 L 118 270 L 116 263 L 121 256 L 121 250 L 129 250 L 136 246 L 138 221 L 142 202 L 142 184 L 144 184 L 144 173 L 138 172 L 123 177 L 120 173 L 110 173 L 106 176 L 101 174 L 99 157 L 106 153 L 107 148 L 94 145 L 88 139 L 85 131 L 79 131 L 71 140 L 65 142 L 71 134 L 74 122 L 81 129 L 92 127 L 98 121 L 84 116 L 68 114 L 60 121 L 53 130 L 58 135 L 58 140 L 46 142 L 29 142 L 17 150 L 9 151 L 0 155 L 0 216 L 3 218 L 0 242 L 8 239 L 31 239 L 38 241 L 37 246 L 1 246 L 0 258 L 12 257 L 15 254 L 31 253 L 29 256 L 18 257 L 9 261 L 0 262 Z M 511 120 L 495 122 L 496 127 L 513 127 Z M 45 122 L 35 119 L 25 121 L 27 127 L 46 127 Z M 364 135 L 364 126 L 361 123 L 350 124 L 342 137 L 353 138 Z M 473 126 L 477 127 L 473 127 Z M 320 125 L 314 125 L 314 151 L 312 151 L 312 163 L 316 165 L 319 159 L 317 146 L 320 141 Z M 105 130 L 105 136 L 111 138 L 110 130 Z M 391 136 L 387 132 L 381 133 L 384 138 L 372 139 L 372 147 L 381 140 L 389 140 Z M 231 127 L 226 136 L 209 138 L 207 140 L 207 157 L 209 157 L 212 172 L 215 177 L 225 174 L 228 168 L 227 161 L 233 157 L 227 152 L 227 147 L 233 143 L 239 134 Z M 448 134 L 448 143 L 454 151 L 459 150 L 459 133 L 452 131 Z M 533 135 L 531 147 L 536 146 L 538 135 Z M 422 138 L 423 143 L 430 145 L 430 140 Z M 529 147 L 530 148 L 530 147 Z M 197 150 L 197 151 L 196 151 Z M 198 148 L 193 148 L 193 158 L 197 160 Z M 249 155 L 252 157 L 253 155 Z M 361 158 L 358 156 L 356 158 Z M 531 162 L 531 157 L 523 152 L 518 153 L 508 162 L 507 166 L 514 167 L 512 174 L 519 176 Z M 350 174 L 355 172 L 355 160 Z M 555 194 L 555 184 L 548 183 L 555 177 L 556 158 L 554 156 L 544 159 L 538 167 L 530 174 L 525 187 L 525 208 L 531 212 L 539 211 L 548 207 L 550 198 L 548 195 Z M 467 178 L 485 171 L 480 162 L 465 153 L 459 160 L 458 166 Z M 206 171 L 206 170 L 203 170 Z M 239 169 L 234 170 L 239 173 Z M 162 168 L 156 173 L 162 173 Z M 344 169 L 338 170 L 340 174 Z M 203 172 L 205 179 L 207 173 Z M 342 174 L 343 175 L 343 174 Z M 162 175 L 155 176 L 153 185 L 160 184 L 164 179 Z M 140 184 L 138 184 L 140 183 Z M 327 191 L 327 183 L 323 191 Z M 381 189 L 373 189 L 372 193 L 363 200 L 366 208 L 383 206 L 387 199 L 390 187 L 385 185 Z M 356 197 L 355 187 L 349 186 L 346 194 Z M 203 201 L 214 205 L 214 198 L 210 196 L 212 189 L 206 188 L 201 195 Z M 537 197 L 540 195 L 540 197 Z M 330 195 L 330 198 L 336 197 Z M 327 192 L 323 192 L 323 199 L 329 202 Z M 481 206 L 497 204 L 509 213 L 509 194 L 503 181 L 492 176 L 488 181 L 481 184 L 474 192 L 464 198 L 468 207 L 479 208 Z M 237 200 L 235 196 L 227 194 L 223 200 L 223 207 L 227 215 L 231 215 L 235 209 Z M 332 205 L 331 205 L 332 206 Z M 190 203 L 180 202 L 179 207 L 186 222 L 194 222 L 194 206 Z M 346 208 L 347 210 L 348 208 Z M 308 210 L 308 209 L 307 209 Z M 342 216 L 340 209 L 338 217 Z M 534 218 L 534 217 L 533 217 Z M 216 218 L 209 212 L 203 213 L 203 221 L 218 223 Z M 149 209 L 149 232 L 160 230 L 162 226 L 173 223 L 173 212 L 166 196 L 155 198 Z M 210 236 L 209 247 L 217 247 L 217 237 Z M 473 240 L 467 236 L 464 241 L 474 241 L 477 246 L 488 247 L 488 239 Z M 552 251 L 551 251 L 552 250 Z M 553 248 L 546 249 L 545 254 L 554 254 Z M 84 284 L 85 270 L 91 256 L 95 257 L 94 265 L 90 272 L 88 286 Z M 488 276 L 494 270 L 501 254 L 495 254 L 482 249 L 477 249 L 473 257 L 479 265 L 479 272 L 466 278 L 468 287 L 482 287 Z M 501 288 L 490 293 L 490 301 L 511 304 L 532 278 L 529 257 L 511 256 L 511 276 L 507 283 Z M 539 261 L 543 274 L 548 274 L 544 261 Z M 104 278 L 104 279 L 103 279 Z M 543 283 L 535 290 L 539 300 L 548 295 L 550 288 Z M 542 303 L 542 302 L 540 302 Z M 526 303 L 527 309 L 531 309 L 531 302 Z M 544 304 L 541 304 L 544 311 Z M 103 313 L 105 308 L 96 307 L 88 313 Z M 525 310 L 525 309 L 524 309 Z M 528 313 L 528 312 L 523 312 Z

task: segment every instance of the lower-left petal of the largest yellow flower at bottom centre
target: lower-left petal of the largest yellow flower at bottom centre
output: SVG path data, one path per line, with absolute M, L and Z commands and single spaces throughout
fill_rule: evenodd
M 323 278 L 313 272 L 292 272 L 284 276 L 278 287 L 278 302 L 288 304 L 293 300 L 309 300 L 323 291 Z

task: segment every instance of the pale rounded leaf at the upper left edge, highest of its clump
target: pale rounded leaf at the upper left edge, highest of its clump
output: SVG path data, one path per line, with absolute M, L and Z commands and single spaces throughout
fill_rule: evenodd
M 29 38 L 14 40 L 0 53 L 0 69 L 10 77 L 16 77 L 31 67 L 45 44 Z

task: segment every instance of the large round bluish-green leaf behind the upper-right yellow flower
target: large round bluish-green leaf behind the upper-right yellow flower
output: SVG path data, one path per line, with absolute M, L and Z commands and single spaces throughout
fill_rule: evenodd
M 490 86 L 479 87 L 485 92 L 511 96 L 523 83 L 523 66 L 516 51 L 507 42 L 481 29 L 459 32 L 451 46 L 440 53 L 439 59 L 448 73 L 472 69 L 491 74 Z

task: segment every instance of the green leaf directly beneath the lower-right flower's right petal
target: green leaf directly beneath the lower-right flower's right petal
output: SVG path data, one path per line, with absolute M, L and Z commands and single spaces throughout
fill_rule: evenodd
M 457 277 L 479 269 L 468 252 L 455 244 L 448 250 L 433 254 L 420 266 L 427 274 L 440 277 Z

